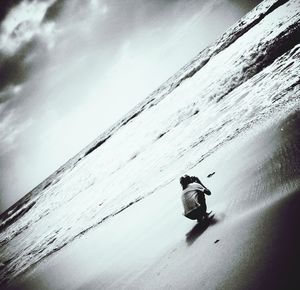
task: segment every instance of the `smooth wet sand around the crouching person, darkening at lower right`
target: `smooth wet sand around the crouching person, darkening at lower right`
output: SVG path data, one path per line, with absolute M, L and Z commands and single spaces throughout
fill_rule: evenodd
M 172 182 L 12 289 L 299 289 L 299 129 L 300 112 L 237 137 L 189 172 L 212 191 L 207 229 L 181 215 Z

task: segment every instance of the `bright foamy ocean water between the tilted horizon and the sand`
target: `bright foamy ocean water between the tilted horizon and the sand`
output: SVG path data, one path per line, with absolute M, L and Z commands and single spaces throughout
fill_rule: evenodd
M 264 1 L 1 215 L 0 280 L 299 109 L 300 4 Z M 201 177 L 201 176 L 200 176 Z

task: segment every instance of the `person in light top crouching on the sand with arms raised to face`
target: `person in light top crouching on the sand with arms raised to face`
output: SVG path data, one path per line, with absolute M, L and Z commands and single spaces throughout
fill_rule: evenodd
M 181 200 L 184 208 L 184 216 L 189 219 L 207 218 L 205 194 L 211 195 L 202 182 L 196 176 L 184 175 L 180 178 L 182 186 Z

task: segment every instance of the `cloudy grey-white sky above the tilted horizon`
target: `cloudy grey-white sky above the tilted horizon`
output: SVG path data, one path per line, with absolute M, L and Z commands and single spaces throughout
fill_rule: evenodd
M 258 2 L 1 0 L 0 212 Z

